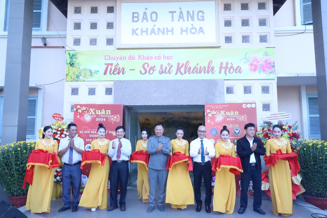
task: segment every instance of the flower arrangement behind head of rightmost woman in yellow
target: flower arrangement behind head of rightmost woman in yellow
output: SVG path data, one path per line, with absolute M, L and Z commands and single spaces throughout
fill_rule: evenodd
M 291 144 L 292 150 L 298 150 L 299 145 L 298 141 L 301 136 L 300 132 L 297 132 L 298 129 L 297 121 L 292 125 L 288 125 L 288 122 L 284 125 L 282 122 L 278 121 L 278 124 L 283 127 L 282 138 L 289 141 Z M 259 126 L 259 131 L 256 133 L 257 137 L 261 139 L 262 144 L 266 147 L 266 143 L 268 139 L 273 139 L 274 134 L 272 131 L 273 123 L 261 124 Z

